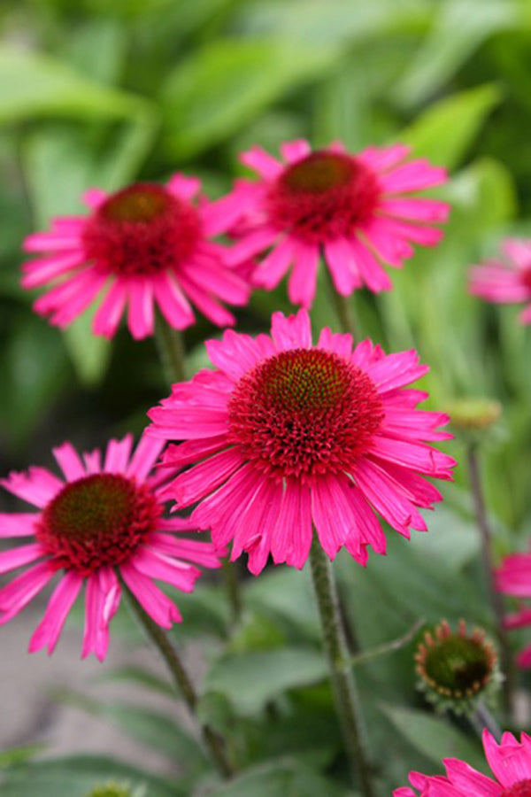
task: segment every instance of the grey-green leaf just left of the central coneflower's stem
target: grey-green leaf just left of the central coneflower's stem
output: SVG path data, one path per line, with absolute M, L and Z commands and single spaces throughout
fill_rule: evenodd
M 219 692 L 243 716 L 256 714 L 287 689 L 314 684 L 327 677 L 327 662 L 312 648 L 227 654 L 204 680 L 204 693 Z

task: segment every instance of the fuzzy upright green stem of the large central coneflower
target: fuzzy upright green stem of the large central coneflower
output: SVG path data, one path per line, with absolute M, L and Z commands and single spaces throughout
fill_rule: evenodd
M 339 613 L 337 589 L 332 565 L 320 546 L 317 535 L 310 549 L 313 587 L 319 606 L 324 646 L 335 696 L 335 708 L 342 725 L 342 734 L 350 762 L 358 773 L 358 784 L 364 797 L 373 797 L 369 764 L 361 727 L 358 694 L 351 671 L 350 655 Z

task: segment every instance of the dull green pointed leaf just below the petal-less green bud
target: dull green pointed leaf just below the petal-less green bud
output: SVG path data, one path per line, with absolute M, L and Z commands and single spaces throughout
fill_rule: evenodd
M 480 743 L 471 741 L 447 720 L 425 711 L 389 704 L 381 705 L 381 710 L 413 747 L 436 764 L 452 757 L 466 761 L 477 770 L 486 769 Z

